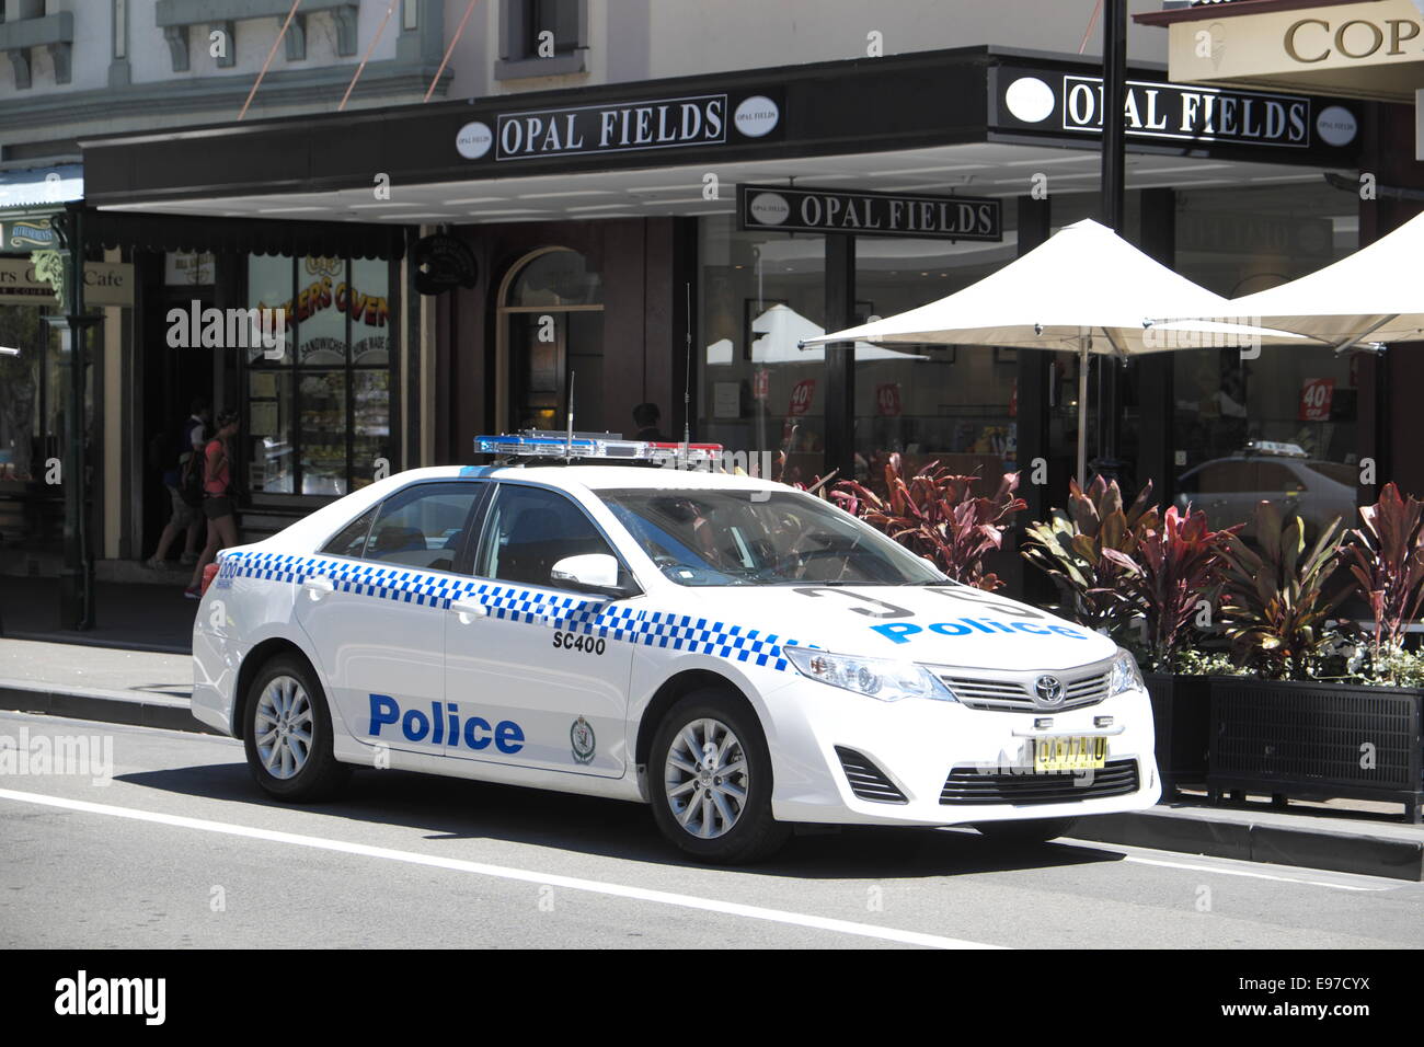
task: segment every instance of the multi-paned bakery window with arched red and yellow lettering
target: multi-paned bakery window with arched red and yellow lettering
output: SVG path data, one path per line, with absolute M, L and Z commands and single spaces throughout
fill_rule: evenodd
M 248 303 L 283 309 L 288 332 L 283 352 L 248 348 L 249 489 L 340 496 L 366 486 L 392 453 L 387 264 L 253 255 Z

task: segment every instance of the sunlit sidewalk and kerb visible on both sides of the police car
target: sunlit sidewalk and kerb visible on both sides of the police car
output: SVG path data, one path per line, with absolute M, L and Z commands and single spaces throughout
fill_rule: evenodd
M 187 654 L 0 638 L 0 709 L 206 731 L 189 712 L 191 694 Z M 1424 826 L 1407 825 L 1397 803 L 1213 808 L 1205 796 L 1185 793 L 1151 811 L 1084 819 L 1069 836 L 1424 882 Z

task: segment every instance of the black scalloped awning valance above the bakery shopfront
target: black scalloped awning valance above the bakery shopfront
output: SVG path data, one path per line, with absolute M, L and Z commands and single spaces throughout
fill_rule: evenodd
M 406 226 L 91 211 L 84 217 L 84 239 L 148 251 L 399 259 Z

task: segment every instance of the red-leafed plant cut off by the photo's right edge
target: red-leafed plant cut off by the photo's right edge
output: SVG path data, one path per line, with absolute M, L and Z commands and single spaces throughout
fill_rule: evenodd
M 1421 513 L 1424 503 L 1413 494 L 1401 497 L 1400 489 L 1387 483 L 1377 503 L 1360 507 L 1364 526 L 1350 531 L 1346 556 L 1374 615 L 1376 657 L 1381 648 L 1403 645 L 1404 627 L 1424 600 Z

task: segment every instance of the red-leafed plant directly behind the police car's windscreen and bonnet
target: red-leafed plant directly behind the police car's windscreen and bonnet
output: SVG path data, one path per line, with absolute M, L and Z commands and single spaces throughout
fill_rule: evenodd
M 1028 507 L 1014 494 L 1018 473 L 1004 473 L 991 497 L 973 493 L 975 476 L 957 476 L 931 462 L 910 479 L 899 454 L 884 469 L 881 497 L 854 480 L 842 480 L 832 500 L 956 581 L 984 590 L 1002 588 L 997 574 L 984 570 L 984 557 L 1000 550 L 1014 514 Z

